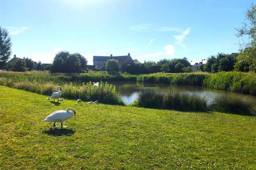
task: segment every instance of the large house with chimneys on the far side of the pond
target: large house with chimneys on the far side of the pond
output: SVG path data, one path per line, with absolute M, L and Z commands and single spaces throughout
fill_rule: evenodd
M 117 60 L 121 70 L 127 64 L 134 64 L 130 53 L 128 53 L 125 56 L 113 56 L 112 54 L 110 56 L 93 56 L 93 65 L 97 70 L 105 70 L 106 62 L 110 59 Z

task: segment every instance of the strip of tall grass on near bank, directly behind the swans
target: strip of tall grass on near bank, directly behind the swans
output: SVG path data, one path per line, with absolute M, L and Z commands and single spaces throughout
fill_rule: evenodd
M 93 86 L 91 82 L 74 84 L 62 81 L 51 82 L 44 79 L 30 80 L 26 76 L 22 78 L 17 75 L 8 78 L 0 77 L 0 86 L 22 89 L 47 96 L 51 96 L 53 92 L 57 91 L 57 87 L 61 86 L 61 97 L 65 99 L 77 100 L 80 98 L 84 101 L 98 100 L 100 103 L 105 104 L 124 105 L 115 86 L 107 82 L 100 82 L 99 86 Z

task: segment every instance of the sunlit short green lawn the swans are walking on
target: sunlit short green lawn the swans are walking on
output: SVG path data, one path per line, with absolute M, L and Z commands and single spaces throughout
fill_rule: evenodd
M 67 107 L 76 116 L 49 130 L 42 120 Z M 0 169 L 256 169 L 255 130 L 255 116 L 55 106 L 0 86 Z

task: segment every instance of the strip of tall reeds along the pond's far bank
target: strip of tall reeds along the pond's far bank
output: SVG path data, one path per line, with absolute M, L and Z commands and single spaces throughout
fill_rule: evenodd
M 143 75 L 118 74 L 107 72 L 89 72 L 81 74 L 50 74 L 48 72 L 0 72 L 0 77 L 15 81 L 29 82 L 75 82 L 89 81 L 138 81 L 175 85 L 204 86 L 213 89 L 242 92 L 256 95 L 256 74 L 244 72 L 219 72 L 216 74 L 195 73 L 153 73 Z

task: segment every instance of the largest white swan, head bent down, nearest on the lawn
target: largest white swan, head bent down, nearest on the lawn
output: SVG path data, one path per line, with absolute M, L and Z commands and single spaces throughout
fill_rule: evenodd
M 70 112 L 71 111 L 71 112 Z M 67 108 L 66 111 L 55 111 L 45 118 L 45 122 L 54 122 L 53 127 L 55 128 L 56 122 L 61 122 L 61 129 L 63 128 L 63 121 L 76 115 L 76 111 L 73 108 Z

